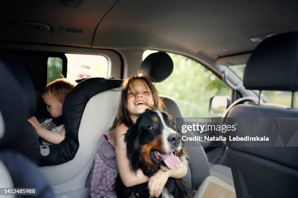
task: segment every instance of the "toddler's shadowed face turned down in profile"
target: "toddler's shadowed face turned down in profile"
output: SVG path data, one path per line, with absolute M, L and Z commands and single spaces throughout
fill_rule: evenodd
M 54 118 L 62 115 L 63 102 L 56 99 L 52 93 L 47 92 L 42 95 L 44 103 L 47 105 L 48 112 Z

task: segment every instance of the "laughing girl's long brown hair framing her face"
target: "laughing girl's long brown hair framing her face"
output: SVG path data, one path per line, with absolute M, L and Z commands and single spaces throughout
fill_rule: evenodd
M 148 104 L 149 108 L 157 111 L 165 111 L 165 104 L 163 100 L 158 96 L 158 91 L 153 85 L 152 80 L 148 76 L 145 76 L 143 73 L 140 73 L 139 75 L 136 75 L 136 76 L 130 76 L 122 83 L 122 91 L 120 96 L 118 113 L 116 115 L 116 118 L 110 130 L 115 129 L 120 124 L 125 124 L 129 128 L 134 125 L 127 108 L 128 106 L 127 99 L 128 99 L 128 92 L 130 90 L 129 84 L 130 82 L 133 82 L 134 80 L 137 80 L 137 79 L 142 80 L 146 85 L 146 87 L 148 86 L 148 88 L 152 93 L 153 105 Z

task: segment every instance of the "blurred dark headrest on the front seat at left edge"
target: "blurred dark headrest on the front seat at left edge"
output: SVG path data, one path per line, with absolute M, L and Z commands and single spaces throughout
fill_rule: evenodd
M 0 149 L 19 151 L 38 164 L 37 132 L 27 121 L 29 109 L 24 90 L 26 85 L 19 81 L 21 75 L 13 74 L 14 66 L 0 63 L 0 113 L 4 122 Z

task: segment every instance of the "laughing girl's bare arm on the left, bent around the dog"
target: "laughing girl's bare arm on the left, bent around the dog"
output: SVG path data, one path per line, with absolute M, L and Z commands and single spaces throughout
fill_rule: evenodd
M 127 132 L 127 130 L 128 128 L 124 124 L 118 125 L 116 127 L 113 137 L 115 146 L 117 148 L 126 148 L 126 144 L 124 142 L 124 134 Z M 120 178 L 126 187 L 149 181 L 149 177 L 145 176 L 141 169 L 138 169 L 135 174 L 135 172 L 130 168 L 130 161 L 127 158 L 126 149 L 115 149 L 115 153 Z

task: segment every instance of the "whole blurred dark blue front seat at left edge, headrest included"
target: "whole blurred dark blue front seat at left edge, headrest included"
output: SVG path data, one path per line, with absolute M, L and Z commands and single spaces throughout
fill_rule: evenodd
M 8 66 L 10 69 L 15 68 L 14 65 Z M 38 166 L 27 158 L 30 156 L 25 156 L 27 153 L 21 155 L 16 152 L 16 148 L 21 148 L 18 147 L 18 144 L 26 146 L 21 142 L 26 138 L 23 136 L 29 135 L 30 137 L 32 132 L 36 132 L 27 131 L 29 123 L 27 121 L 29 115 L 28 100 L 22 91 L 23 84 L 19 84 L 19 79 L 7 67 L 0 63 L 0 79 L 3 80 L 0 83 L 0 91 L 3 96 L 0 97 L 1 187 L 36 188 L 35 197 L 54 198 L 51 186 L 45 176 L 40 172 Z M 21 77 L 19 76 L 19 78 Z M 38 148 L 35 149 L 38 151 Z

